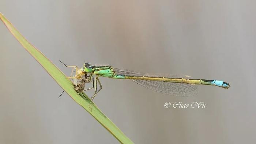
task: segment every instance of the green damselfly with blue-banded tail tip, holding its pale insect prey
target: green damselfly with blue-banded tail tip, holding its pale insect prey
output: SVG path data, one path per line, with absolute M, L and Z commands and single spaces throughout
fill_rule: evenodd
M 82 91 L 86 91 L 95 87 L 95 92 L 93 97 L 91 97 L 90 105 L 96 94 L 102 89 L 102 85 L 98 77 L 109 77 L 112 79 L 130 79 L 135 83 L 153 91 L 173 96 L 193 96 L 197 93 L 196 85 L 198 84 L 216 85 L 225 89 L 230 87 L 229 83 L 221 80 L 192 79 L 192 77 L 187 75 L 142 73 L 127 69 L 118 69 L 110 65 L 91 66 L 90 63 L 84 63 L 82 68 L 78 68 L 77 66 L 67 67 L 73 67 L 72 73 L 75 72 L 75 75 L 72 76 L 71 73 L 71 76 L 68 78 L 74 79 L 74 87 L 75 89 L 77 89 L 76 92 L 80 93 Z M 84 85 L 86 83 L 93 82 L 93 87 L 89 89 L 84 89 L 83 85 L 83 87 L 77 88 L 78 85 L 75 82 L 77 80 L 84 80 Z M 97 89 L 98 83 L 100 86 L 99 89 Z

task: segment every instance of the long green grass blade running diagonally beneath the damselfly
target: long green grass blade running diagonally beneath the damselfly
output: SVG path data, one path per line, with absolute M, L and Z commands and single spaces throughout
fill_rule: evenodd
M 89 112 L 103 127 L 105 127 L 120 143 L 133 143 L 124 133 L 107 117 L 105 116 L 101 110 L 95 105 L 92 104 L 91 108 L 89 108 L 90 99 L 84 100 L 80 97 L 74 87 L 72 82 L 67 79 L 67 76 L 63 72 L 61 72 L 47 57 L 41 53 L 37 48 L 29 43 L 23 37 L 19 31 L 8 21 L 2 13 L 0 13 L 0 19 L 3 21 L 5 26 L 9 29 L 9 31 L 14 35 L 14 37 L 19 41 L 19 43 L 38 61 L 39 64 L 49 73 L 50 76 L 63 88 L 69 96 L 72 97 L 76 101 L 76 103 L 80 104 L 87 112 Z

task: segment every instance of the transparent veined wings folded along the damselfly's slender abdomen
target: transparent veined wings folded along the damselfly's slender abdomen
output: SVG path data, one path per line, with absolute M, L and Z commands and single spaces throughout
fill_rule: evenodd
M 114 69 L 117 75 L 125 76 L 147 76 L 147 77 L 168 77 L 168 78 L 184 78 L 191 79 L 187 75 L 170 75 L 162 73 L 142 73 L 127 69 Z M 132 79 L 133 80 L 133 79 Z M 166 81 L 151 81 L 151 80 L 133 80 L 135 83 L 142 85 L 145 88 L 164 93 L 172 96 L 193 96 L 197 94 L 197 86 L 187 83 L 172 83 Z

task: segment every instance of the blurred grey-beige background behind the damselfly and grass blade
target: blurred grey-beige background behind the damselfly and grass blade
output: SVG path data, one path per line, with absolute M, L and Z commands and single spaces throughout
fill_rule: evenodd
M 101 78 L 94 103 L 134 143 L 255 143 L 256 2 L 253 0 L 0 0 L 0 12 L 66 75 L 67 65 L 229 82 L 193 97 Z M 0 23 L 0 143 L 118 141 L 75 103 Z M 89 87 L 90 85 L 88 85 Z M 86 92 L 89 97 L 93 90 Z M 206 108 L 165 108 L 193 101 Z

